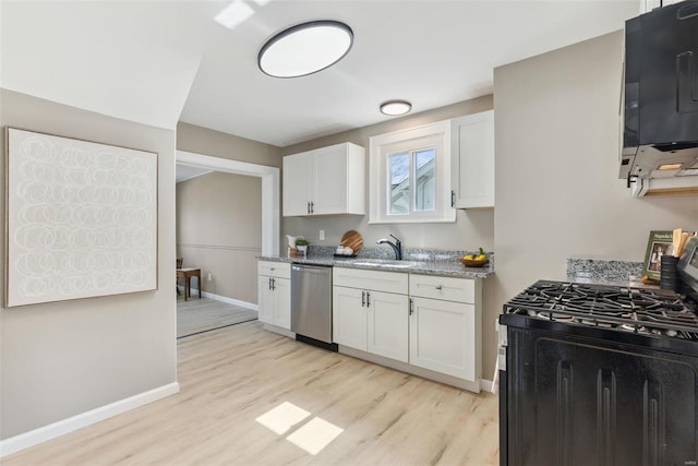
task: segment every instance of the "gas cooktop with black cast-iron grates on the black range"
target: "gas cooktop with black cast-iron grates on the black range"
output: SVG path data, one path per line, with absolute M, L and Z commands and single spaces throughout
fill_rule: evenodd
M 661 289 L 540 280 L 505 304 L 507 313 L 549 321 L 698 340 L 698 315 Z

